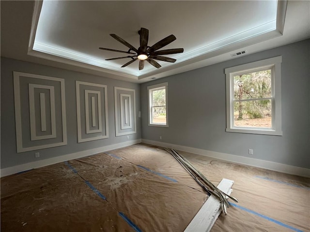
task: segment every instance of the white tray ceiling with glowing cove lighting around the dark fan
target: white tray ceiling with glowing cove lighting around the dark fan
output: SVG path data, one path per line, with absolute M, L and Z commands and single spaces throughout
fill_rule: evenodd
M 139 71 L 116 34 L 136 48 L 138 30 L 149 29 L 148 45 L 173 34 L 162 49 L 175 63 L 146 62 Z M 186 72 L 224 60 L 310 38 L 310 1 L 1 1 L 1 56 L 136 83 Z M 241 55 L 241 56 L 245 56 Z

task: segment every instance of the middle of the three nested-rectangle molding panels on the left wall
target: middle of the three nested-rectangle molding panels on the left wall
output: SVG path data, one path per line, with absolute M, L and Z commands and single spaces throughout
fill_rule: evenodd
M 76 81 L 78 143 L 109 138 L 107 86 Z

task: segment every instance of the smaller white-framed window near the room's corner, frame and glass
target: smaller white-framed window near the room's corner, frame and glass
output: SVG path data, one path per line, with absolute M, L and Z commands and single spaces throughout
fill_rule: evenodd
M 168 83 L 148 86 L 149 126 L 168 127 Z

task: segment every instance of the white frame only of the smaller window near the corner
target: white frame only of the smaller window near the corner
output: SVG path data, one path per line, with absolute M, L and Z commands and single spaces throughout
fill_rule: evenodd
M 153 86 L 148 86 L 148 113 L 149 113 L 149 126 L 153 127 L 169 127 L 168 125 L 168 82 L 160 83 Z M 152 92 L 154 90 L 165 89 L 166 91 L 166 123 L 153 123 L 152 122 Z

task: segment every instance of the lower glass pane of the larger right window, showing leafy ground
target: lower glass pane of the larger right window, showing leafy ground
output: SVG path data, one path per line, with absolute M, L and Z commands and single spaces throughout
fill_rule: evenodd
M 271 100 L 234 102 L 234 127 L 272 128 Z

